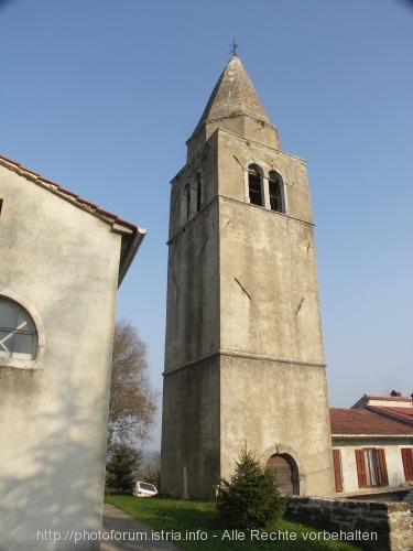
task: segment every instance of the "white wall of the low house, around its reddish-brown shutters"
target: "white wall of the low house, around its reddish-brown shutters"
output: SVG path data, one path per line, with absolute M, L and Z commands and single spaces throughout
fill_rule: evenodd
M 340 450 L 341 453 L 343 491 L 356 491 L 360 489 L 357 477 L 355 451 L 362 447 L 384 449 L 389 486 L 400 486 L 405 482 L 401 449 L 413 449 L 411 439 L 409 439 L 407 442 L 403 442 L 396 439 L 391 441 L 383 439 L 366 439 L 357 442 L 341 442 L 340 445 L 333 445 L 333 449 Z

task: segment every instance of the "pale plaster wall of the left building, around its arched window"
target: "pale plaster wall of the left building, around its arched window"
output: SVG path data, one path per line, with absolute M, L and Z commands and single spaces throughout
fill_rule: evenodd
M 0 365 L 0 550 L 74 549 L 101 525 L 120 236 L 3 166 L 0 197 L 0 294 L 43 327 L 35 369 Z

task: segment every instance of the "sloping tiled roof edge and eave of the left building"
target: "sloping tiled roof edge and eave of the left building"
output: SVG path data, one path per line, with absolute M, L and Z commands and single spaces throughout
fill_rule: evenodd
M 112 214 L 109 210 L 104 210 L 95 203 L 90 203 L 89 201 L 81 198 L 76 193 L 65 190 L 61 185 L 56 184 L 56 182 L 42 176 L 37 172 L 26 169 L 17 161 L 13 161 L 2 154 L 0 154 L 0 164 L 6 169 L 17 172 L 26 180 L 41 185 L 63 199 L 73 203 L 76 207 L 100 218 L 102 222 L 108 224 L 112 231 L 122 236 L 118 279 L 118 284 L 120 285 L 133 261 L 134 256 L 138 252 L 139 247 L 141 246 L 141 242 L 146 234 L 146 229 L 123 220 L 119 218 L 118 215 Z

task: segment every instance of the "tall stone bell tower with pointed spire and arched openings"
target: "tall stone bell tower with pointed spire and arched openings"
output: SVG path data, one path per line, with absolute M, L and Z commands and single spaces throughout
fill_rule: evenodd
M 239 57 L 172 181 L 161 491 L 211 497 L 242 447 L 285 493 L 334 495 L 305 161 Z

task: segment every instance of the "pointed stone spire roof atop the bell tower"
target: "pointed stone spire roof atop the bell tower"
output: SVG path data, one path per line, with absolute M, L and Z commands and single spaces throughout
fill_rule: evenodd
M 205 120 L 241 114 L 270 122 L 241 60 L 233 56 L 219 77 L 194 133 Z

